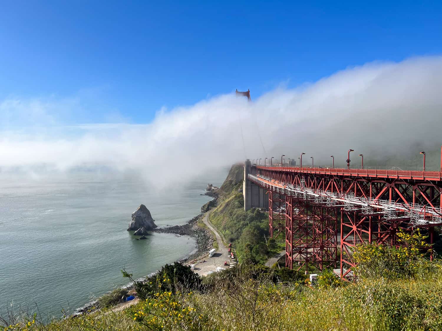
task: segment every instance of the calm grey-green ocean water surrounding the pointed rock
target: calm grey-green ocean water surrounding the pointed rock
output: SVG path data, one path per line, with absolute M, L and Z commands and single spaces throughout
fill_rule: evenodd
M 44 180 L 0 178 L 0 313 L 14 307 L 43 315 L 73 312 L 92 297 L 191 254 L 193 238 L 154 233 L 137 241 L 126 231 L 130 214 L 144 203 L 158 226 L 187 222 L 209 201 L 200 177 L 167 191 L 135 176 L 94 173 Z

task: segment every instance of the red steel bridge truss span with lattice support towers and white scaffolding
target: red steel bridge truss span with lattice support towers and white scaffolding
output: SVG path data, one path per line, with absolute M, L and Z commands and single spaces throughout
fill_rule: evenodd
M 442 225 L 442 172 L 267 166 L 256 170 L 249 179 L 270 191 L 270 233 L 277 229 L 278 236 L 285 227 L 290 269 L 307 270 L 309 264 L 320 270 L 334 267 L 339 245 L 341 276 L 351 276 L 356 244 L 398 245 L 397 231 L 416 227 L 427 228 L 433 242 L 434 226 Z

